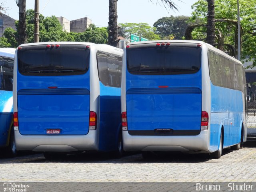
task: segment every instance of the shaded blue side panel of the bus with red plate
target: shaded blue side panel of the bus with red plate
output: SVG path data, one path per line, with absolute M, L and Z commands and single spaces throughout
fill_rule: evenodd
M 120 88 L 107 87 L 100 82 L 100 151 L 118 148 L 117 131 L 121 123 L 120 95 Z

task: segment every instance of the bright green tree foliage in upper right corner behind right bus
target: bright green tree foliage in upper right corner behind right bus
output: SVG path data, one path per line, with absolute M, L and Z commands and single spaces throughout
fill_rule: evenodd
M 239 0 L 241 26 L 244 34 L 242 36 L 241 58 L 245 61 L 246 57 L 254 59 L 256 55 L 256 38 L 253 32 L 256 30 L 256 0 Z M 207 2 L 198 0 L 192 5 L 192 21 L 200 19 L 201 23 L 207 22 Z M 236 0 L 215 0 L 215 19 L 237 20 L 237 1 Z M 236 44 L 236 27 L 228 22 L 216 22 L 215 27 L 220 30 L 224 37 L 224 42 Z M 206 30 L 197 29 L 192 32 L 193 39 L 205 38 Z M 254 60 L 256 66 L 256 60 Z

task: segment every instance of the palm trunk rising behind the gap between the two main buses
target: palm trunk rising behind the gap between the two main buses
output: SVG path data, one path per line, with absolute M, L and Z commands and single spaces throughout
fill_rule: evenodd
M 108 44 L 114 47 L 117 47 L 118 44 L 117 1 L 109 0 L 108 13 Z

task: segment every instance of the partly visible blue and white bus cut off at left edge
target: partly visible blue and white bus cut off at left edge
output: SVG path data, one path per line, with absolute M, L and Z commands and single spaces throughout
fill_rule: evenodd
M 4 147 L 4 150 L 7 150 L 8 156 L 16 156 L 17 154 L 12 121 L 14 53 L 14 48 L 0 48 L 0 147 Z

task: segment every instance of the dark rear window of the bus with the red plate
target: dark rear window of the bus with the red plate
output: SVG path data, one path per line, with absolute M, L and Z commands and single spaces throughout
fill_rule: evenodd
M 23 75 L 78 75 L 88 71 L 90 50 L 86 45 L 24 46 L 18 51 L 18 70 Z

